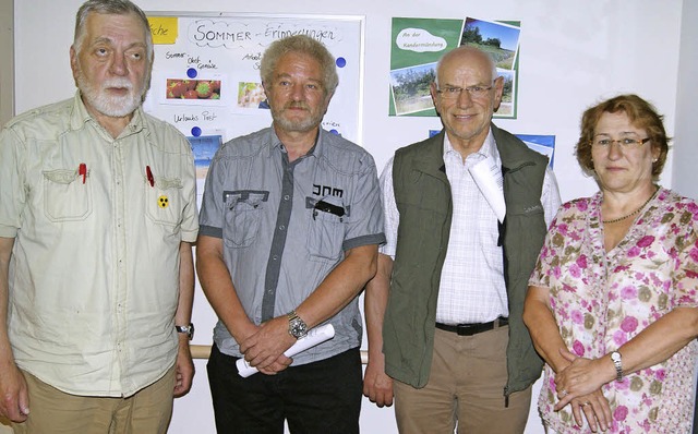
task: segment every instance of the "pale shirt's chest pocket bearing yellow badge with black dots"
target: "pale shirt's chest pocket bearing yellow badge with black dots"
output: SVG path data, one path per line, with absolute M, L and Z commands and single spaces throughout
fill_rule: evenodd
M 182 180 L 155 177 L 144 182 L 145 210 L 156 224 L 178 226 L 182 218 Z

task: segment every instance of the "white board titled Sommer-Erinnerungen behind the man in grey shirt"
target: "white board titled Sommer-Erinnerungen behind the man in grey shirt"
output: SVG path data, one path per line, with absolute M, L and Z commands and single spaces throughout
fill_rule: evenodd
M 219 143 L 269 126 L 260 62 L 303 34 L 336 58 L 339 86 L 323 128 L 361 144 L 363 16 L 148 12 L 155 46 L 144 108 L 190 137 L 197 168 Z

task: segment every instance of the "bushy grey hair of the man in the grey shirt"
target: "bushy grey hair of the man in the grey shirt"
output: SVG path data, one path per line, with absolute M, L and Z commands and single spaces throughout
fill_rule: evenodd
M 289 52 L 306 55 L 315 59 L 323 71 L 323 89 L 325 95 L 335 92 L 339 84 L 335 58 L 322 43 L 305 35 L 294 35 L 275 40 L 266 51 L 264 51 L 260 68 L 262 83 L 265 83 L 266 86 L 274 83 L 274 70 L 279 59 Z

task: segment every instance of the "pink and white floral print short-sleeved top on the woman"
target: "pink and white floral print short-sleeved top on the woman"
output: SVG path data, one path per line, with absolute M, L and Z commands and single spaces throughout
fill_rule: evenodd
M 529 281 L 550 288 L 569 350 L 595 359 L 618 349 L 677 306 L 698 305 L 698 205 L 660 189 L 611 251 L 604 249 L 602 194 L 564 204 L 551 224 Z M 698 345 L 603 386 L 611 433 L 689 433 Z M 539 410 L 557 433 L 590 433 L 570 406 L 553 411 L 555 373 L 545 365 Z

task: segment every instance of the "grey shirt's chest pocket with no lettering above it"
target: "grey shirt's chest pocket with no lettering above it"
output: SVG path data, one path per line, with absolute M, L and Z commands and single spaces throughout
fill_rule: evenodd
M 226 246 L 249 248 L 257 237 L 264 205 L 269 192 L 238 190 L 224 192 L 226 224 L 222 236 Z

